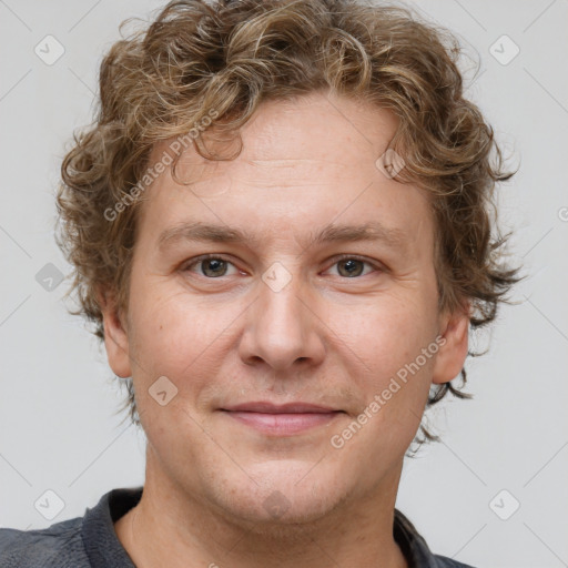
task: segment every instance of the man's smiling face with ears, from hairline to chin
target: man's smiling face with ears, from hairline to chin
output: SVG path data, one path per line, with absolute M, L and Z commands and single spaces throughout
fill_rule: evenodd
M 111 366 L 134 379 L 146 484 L 253 521 L 394 500 L 429 386 L 467 351 L 465 320 L 437 310 L 426 195 L 375 163 L 396 128 L 344 98 L 270 102 L 236 160 L 189 149 L 178 174 L 192 184 L 166 171 L 148 190 L 123 329 L 104 314 Z M 365 225 L 374 237 L 345 229 Z

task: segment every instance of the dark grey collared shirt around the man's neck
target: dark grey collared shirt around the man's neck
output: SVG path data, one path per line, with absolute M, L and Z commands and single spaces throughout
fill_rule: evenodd
M 41 530 L 0 529 L 0 568 L 135 568 L 113 523 L 141 496 L 142 487 L 113 489 L 83 517 Z M 433 555 L 413 524 L 396 509 L 394 537 L 409 568 L 471 568 Z

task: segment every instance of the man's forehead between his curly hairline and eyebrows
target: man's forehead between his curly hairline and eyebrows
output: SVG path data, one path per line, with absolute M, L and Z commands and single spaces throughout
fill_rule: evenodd
M 251 239 L 257 229 L 262 241 L 271 231 L 277 237 L 305 226 L 313 235 L 314 226 L 328 227 L 335 219 L 353 226 L 378 215 L 385 227 L 403 233 L 394 226 L 400 224 L 397 215 L 416 221 L 426 213 L 424 195 L 376 165 L 397 124 L 389 111 L 337 95 L 265 102 L 240 130 L 243 145 L 235 160 L 207 160 L 187 148 L 176 166 L 186 185 L 166 170 L 150 187 L 140 223 L 161 226 L 160 233 L 144 227 L 155 240 L 176 225 L 206 221 L 245 226 Z M 170 143 L 156 144 L 151 164 Z M 271 222 L 276 219 L 278 224 Z

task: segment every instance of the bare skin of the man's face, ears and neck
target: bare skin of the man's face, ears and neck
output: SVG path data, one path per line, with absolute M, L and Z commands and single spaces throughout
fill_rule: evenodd
M 430 385 L 463 367 L 468 316 L 438 311 L 427 195 L 375 165 L 396 128 L 389 111 L 329 93 L 272 101 L 241 130 L 236 160 L 190 148 L 178 174 L 191 185 L 168 170 L 146 190 L 128 313 L 112 294 L 101 300 L 110 365 L 133 377 L 148 436 L 142 499 L 115 523 L 136 566 L 407 566 L 392 534 L 403 458 Z M 189 221 L 257 241 L 159 250 L 165 230 Z M 376 221 L 399 241 L 308 244 L 331 222 Z M 229 264 L 191 265 L 202 254 Z M 354 276 L 343 254 L 362 257 L 347 261 Z M 274 263 L 290 276 L 277 292 L 262 278 Z M 437 336 L 436 355 L 333 447 Z M 178 388 L 165 406 L 149 394 L 161 376 Z M 220 409 L 252 400 L 342 412 L 284 436 Z

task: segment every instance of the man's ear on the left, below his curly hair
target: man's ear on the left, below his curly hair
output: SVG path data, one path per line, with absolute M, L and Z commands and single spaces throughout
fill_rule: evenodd
M 116 376 L 121 378 L 130 377 L 132 369 L 129 356 L 129 337 L 125 325 L 122 322 L 123 318 L 119 313 L 115 297 L 106 290 L 99 291 L 97 297 L 103 317 L 104 347 L 109 365 Z

